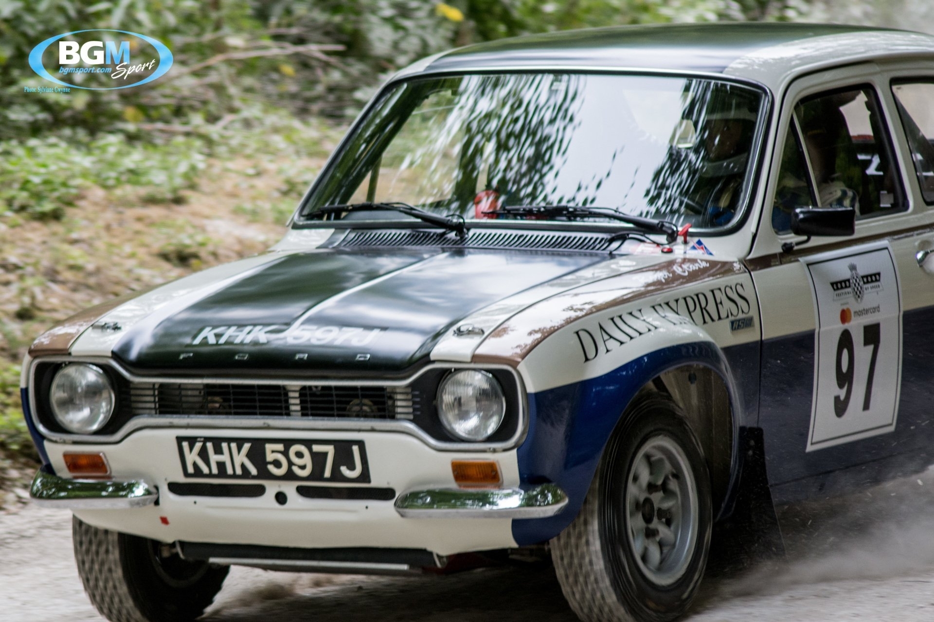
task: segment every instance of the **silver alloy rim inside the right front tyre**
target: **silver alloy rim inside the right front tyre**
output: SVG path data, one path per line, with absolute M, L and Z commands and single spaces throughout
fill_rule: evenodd
M 685 574 L 698 532 L 698 492 L 683 449 L 671 436 L 649 437 L 626 485 L 628 544 L 645 578 L 669 586 Z

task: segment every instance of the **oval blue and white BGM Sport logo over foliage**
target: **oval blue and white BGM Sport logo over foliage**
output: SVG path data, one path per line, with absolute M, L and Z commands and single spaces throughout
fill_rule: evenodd
M 138 87 L 164 76 L 172 61 L 172 52 L 163 42 L 125 30 L 76 30 L 55 35 L 29 53 L 29 66 L 38 76 L 69 89 Z

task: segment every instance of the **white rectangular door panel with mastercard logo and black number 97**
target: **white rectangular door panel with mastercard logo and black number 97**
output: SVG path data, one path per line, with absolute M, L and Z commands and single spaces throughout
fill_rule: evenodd
M 814 286 L 814 397 L 807 450 L 895 430 L 899 275 L 887 242 L 802 259 Z

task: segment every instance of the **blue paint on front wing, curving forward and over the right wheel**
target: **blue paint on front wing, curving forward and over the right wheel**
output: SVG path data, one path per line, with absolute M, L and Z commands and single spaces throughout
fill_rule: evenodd
M 568 494 L 569 503 L 555 517 L 513 520 L 517 544 L 545 542 L 571 524 L 584 504 L 603 447 L 632 397 L 658 374 L 692 364 L 713 367 L 727 380 L 735 404 L 724 353 L 710 342 L 664 348 L 598 378 L 529 395 L 529 435 L 518 449 L 522 486 L 554 482 Z

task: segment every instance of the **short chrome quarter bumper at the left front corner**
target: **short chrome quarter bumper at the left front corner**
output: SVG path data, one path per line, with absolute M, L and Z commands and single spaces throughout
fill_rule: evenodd
M 66 479 L 40 469 L 29 491 L 35 505 L 70 509 L 128 509 L 156 503 L 159 491 L 143 481 Z

